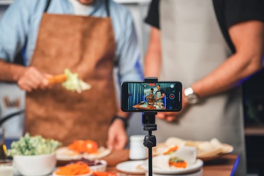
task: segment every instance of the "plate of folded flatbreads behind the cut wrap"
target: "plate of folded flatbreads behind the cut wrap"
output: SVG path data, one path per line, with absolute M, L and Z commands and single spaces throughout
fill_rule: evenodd
M 213 138 L 210 141 L 192 141 L 183 140 L 177 137 L 170 137 L 164 143 L 158 143 L 153 148 L 153 154 L 158 155 L 173 146 L 193 146 L 197 148 L 197 158 L 202 160 L 215 159 L 222 154 L 231 153 L 233 146 L 221 143 L 218 139 Z

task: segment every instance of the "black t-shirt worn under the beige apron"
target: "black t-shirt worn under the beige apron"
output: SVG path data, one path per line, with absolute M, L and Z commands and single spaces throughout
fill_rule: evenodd
M 165 1 L 165 0 L 164 0 Z M 212 0 L 218 24 L 233 52 L 235 48 L 228 35 L 228 28 L 248 20 L 264 22 L 264 0 Z M 152 0 L 145 22 L 156 28 L 159 26 L 159 0 Z

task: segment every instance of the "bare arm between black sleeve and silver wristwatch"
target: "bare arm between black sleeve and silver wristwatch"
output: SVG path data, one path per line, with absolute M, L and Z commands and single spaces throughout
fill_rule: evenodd
M 236 53 L 192 84 L 194 92 L 200 97 L 229 90 L 262 67 L 264 24 L 260 21 L 242 22 L 231 26 L 228 32 Z

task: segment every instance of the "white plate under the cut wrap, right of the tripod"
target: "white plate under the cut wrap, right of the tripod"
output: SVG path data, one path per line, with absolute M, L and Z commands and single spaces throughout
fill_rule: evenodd
M 195 163 L 189 164 L 187 168 L 175 168 L 175 169 L 160 169 L 160 168 L 152 168 L 153 173 L 161 173 L 161 174 L 177 174 L 177 173 L 190 173 L 196 170 L 199 170 L 203 166 L 203 161 L 201 159 L 197 159 Z M 148 170 L 148 160 L 145 160 L 141 165 L 143 169 Z

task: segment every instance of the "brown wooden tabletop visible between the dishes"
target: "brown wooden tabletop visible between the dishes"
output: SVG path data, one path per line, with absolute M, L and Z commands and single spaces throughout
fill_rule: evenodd
M 113 151 L 110 155 L 104 157 L 103 159 L 108 162 L 108 168 L 107 171 L 114 171 L 119 172 L 116 169 L 116 164 L 119 162 L 127 161 L 129 150 L 120 150 L 120 151 Z M 221 157 L 214 159 L 214 160 L 208 160 L 204 161 L 204 176 L 229 176 L 233 170 L 234 164 L 237 160 L 236 154 L 225 154 Z

